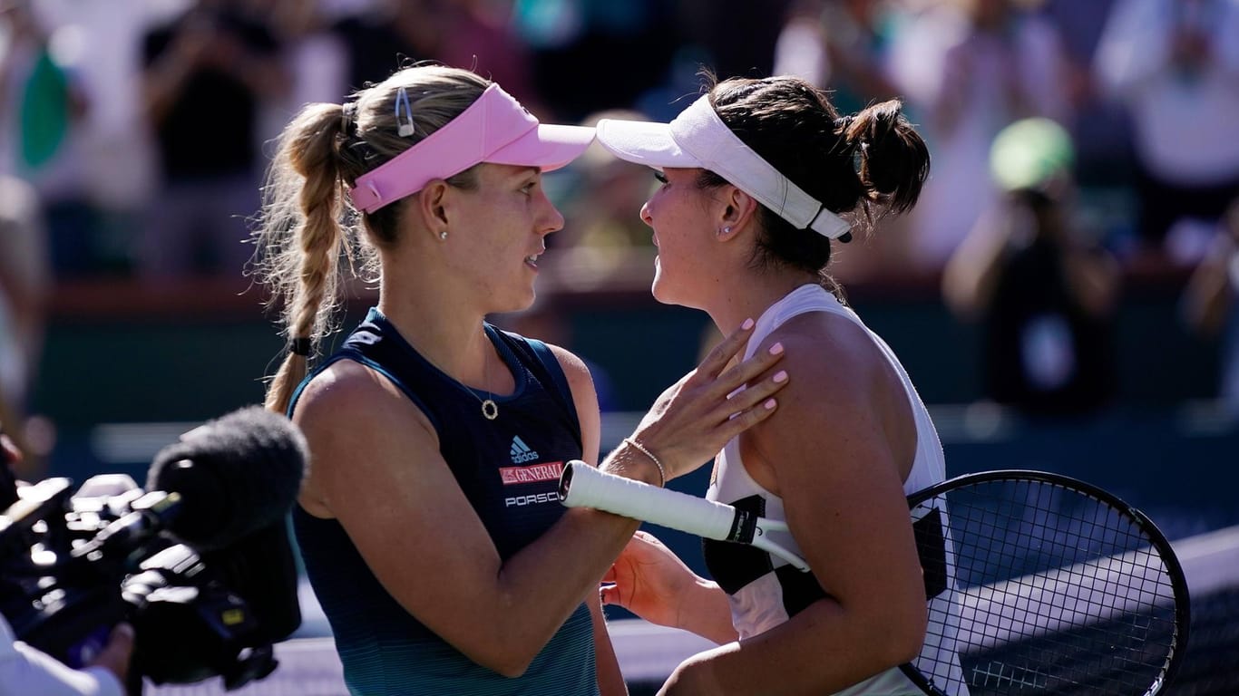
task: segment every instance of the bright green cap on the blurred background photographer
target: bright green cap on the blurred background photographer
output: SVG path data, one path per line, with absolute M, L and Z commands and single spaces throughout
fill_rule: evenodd
M 1070 134 L 1043 118 L 1015 121 L 990 146 L 990 175 L 1005 191 L 1042 188 L 1069 173 L 1074 162 Z

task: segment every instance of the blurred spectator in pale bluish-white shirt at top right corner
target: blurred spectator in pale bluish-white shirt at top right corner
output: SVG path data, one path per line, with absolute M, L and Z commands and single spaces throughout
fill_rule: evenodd
M 1131 118 L 1136 251 L 1199 259 L 1239 196 L 1239 4 L 1118 0 L 1095 69 Z

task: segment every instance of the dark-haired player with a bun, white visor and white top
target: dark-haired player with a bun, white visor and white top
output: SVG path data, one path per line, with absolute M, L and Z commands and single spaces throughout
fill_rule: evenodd
M 954 578 L 949 563 L 922 572 L 904 497 L 945 478 L 943 450 L 900 360 L 825 269 L 836 241 L 916 203 L 924 142 L 900 102 L 840 118 L 793 77 L 727 79 L 670 124 L 602 120 L 597 139 L 658 171 L 641 209 L 658 245 L 654 297 L 705 311 L 724 334 L 760 317 L 743 355 L 781 347 L 795 375 L 778 411 L 719 452 L 706 493 L 761 518 L 790 554 L 715 535 L 707 581 L 639 533 L 603 602 L 720 643 L 662 694 L 919 694 L 901 665 L 922 651 L 930 608 L 950 609 L 934 602 Z M 949 559 L 944 510 L 916 524 Z

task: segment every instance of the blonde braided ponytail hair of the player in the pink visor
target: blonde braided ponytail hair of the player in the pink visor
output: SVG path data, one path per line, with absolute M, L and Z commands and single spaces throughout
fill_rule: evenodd
M 375 281 L 375 248 L 398 239 L 405 204 L 362 214 L 349 203 L 348 187 L 442 128 L 489 84 L 470 71 L 419 64 L 358 90 L 344 104 L 309 104 L 289 123 L 263 187 L 252 264 L 268 286 L 268 303 L 279 312 L 285 338 L 310 339 L 313 355 L 335 328 L 344 284 Z M 409 136 L 399 135 L 395 116 L 401 87 L 415 124 Z M 475 188 L 476 168 L 447 181 Z M 268 385 L 266 407 L 285 411 L 306 370 L 307 357 L 290 350 Z

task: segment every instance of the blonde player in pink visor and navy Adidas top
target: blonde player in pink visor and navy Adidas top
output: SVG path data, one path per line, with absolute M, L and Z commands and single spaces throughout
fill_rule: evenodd
M 558 497 L 564 462 L 598 463 L 593 383 L 487 322 L 534 302 L 564 225 L 543 172 L 592 139 L 441 66 L 307 105 L 281 136 L 256 237 L 289 342 L 266 406 L 313 453 L 292 528 L 356 696 L 626 692 L 597 589 L 638 523 Z M 367 282 L 377 303 L 320 357 Z M 774 412 L 781 355 L 725 369 L 750 331 L 600 468 L 657 484 Z

